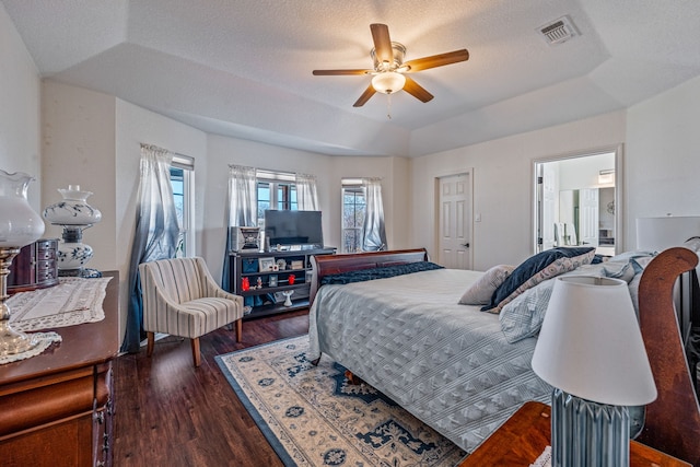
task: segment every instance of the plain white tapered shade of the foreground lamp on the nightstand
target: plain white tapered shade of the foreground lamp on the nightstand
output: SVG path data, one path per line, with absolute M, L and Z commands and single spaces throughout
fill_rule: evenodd
M 533 355 L 535 373 L 599 404 L 653 401 L 656 386 L 627 283 L 580 276 L 555 280 Z

